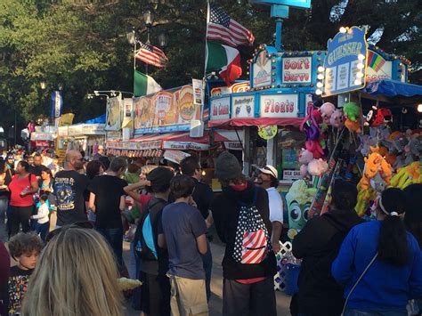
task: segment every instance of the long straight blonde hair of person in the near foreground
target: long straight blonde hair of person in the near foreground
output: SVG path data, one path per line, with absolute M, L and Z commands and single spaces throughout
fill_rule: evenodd
M 123 315 L 118 269 L 107 241 L 94 230 L 59 230 L 32 274 L 22 315 Z

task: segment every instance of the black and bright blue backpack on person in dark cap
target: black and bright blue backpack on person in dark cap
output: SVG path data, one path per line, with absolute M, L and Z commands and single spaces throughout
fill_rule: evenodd
M 166 201 L 162 199 L 150 199 L 143 208 L 141 220 L 134 233 L 134 249 L 136 255 L 148 261 L 157 261 L 157 246 L 155 244 L 154 231 L 151 224 L 150 211 L 162 209 L 166 206 Z

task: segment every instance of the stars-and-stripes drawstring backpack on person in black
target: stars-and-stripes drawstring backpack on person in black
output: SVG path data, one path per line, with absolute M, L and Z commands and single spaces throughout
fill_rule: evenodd
M 263 218 L 256 209 L 255 190 L 254 202 L 250 205 L 240 204 L 238 226 L 234 239 L 233 259 L 237 263 L 262 263 L 271 250 L 270 236 Z

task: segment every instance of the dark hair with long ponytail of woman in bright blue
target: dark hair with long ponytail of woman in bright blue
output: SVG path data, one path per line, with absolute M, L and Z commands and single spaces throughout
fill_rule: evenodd
M 385 214 L 378 239 L 378 258 L 385 263 L 404 265 L 409 261 L 407 231 L 399 215 L 404 210 L 405 197 L 400 189 L 383 191 L 378 202 L 379 212 Z

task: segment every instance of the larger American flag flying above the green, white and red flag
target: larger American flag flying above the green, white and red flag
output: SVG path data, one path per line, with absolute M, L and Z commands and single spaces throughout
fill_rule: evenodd
M 223 41 L 227 45 L 252 45 L 255 37 L 248 28 L 231 19 L 225 12 L 209 4 L 207 17 L 207 39 Z

